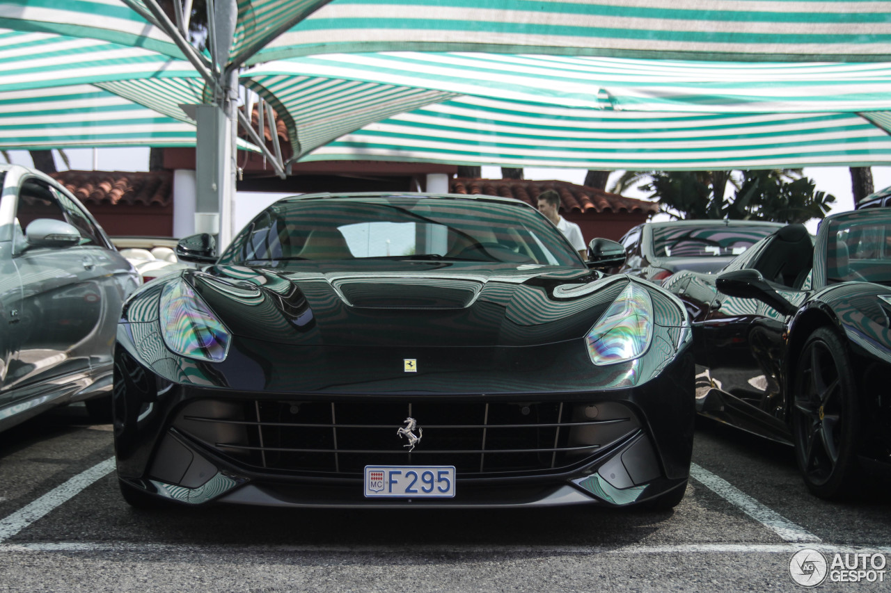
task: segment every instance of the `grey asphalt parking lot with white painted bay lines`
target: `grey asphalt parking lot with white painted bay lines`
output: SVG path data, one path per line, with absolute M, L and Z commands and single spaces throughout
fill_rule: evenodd
M 802 590 L 799 550 L 891 557 L 887 485 L 815 499 L 791 450 L 711 422 L 673 513 L 135 511 L 110 428 L 69 407 L 0 434 L 0 591 Z M 885 570 L 819 589 L 888 590 Z

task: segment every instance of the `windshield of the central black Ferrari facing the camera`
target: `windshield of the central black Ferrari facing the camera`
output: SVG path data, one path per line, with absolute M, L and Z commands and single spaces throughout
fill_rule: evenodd
M 363 259 L 581 265 L 531 207 L 418 196 L 276 202 L 235 237 L 220 264 Z

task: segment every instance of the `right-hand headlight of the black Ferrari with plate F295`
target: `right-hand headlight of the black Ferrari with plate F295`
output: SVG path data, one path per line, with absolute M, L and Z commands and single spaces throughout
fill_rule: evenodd
M 645 353 L 653 337 L 652 311 L 647 289 L 628 282 L 585 337 L 591 361 L 602 366 L 630 361 Z

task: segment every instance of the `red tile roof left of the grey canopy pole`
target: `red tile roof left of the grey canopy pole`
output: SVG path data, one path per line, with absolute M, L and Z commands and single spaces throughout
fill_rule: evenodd
M 60 171 L 51 175 L 87 206 L 168 206 L 173 201 L 172 171 Z

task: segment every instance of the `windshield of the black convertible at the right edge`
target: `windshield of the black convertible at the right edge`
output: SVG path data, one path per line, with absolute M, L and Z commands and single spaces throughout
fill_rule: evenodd
M 884 208 L 883 208 L 884 210 Z M 891 214 L 860 211 L 832 220 L 826 245 L 826 280 L 891 285 Z

